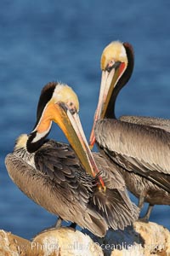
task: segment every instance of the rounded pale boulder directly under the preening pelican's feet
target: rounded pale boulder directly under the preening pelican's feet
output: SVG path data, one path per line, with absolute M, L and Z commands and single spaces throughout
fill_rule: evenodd
M 103 256 L 102 249 L 92 239 L 78 230 L 60 228 L 48 230 L 37 235 L 31 241 L 32 247 L 38 248 L 41 255 L 77 255 Z M 55 253 L 55 254 L 54 254 Z

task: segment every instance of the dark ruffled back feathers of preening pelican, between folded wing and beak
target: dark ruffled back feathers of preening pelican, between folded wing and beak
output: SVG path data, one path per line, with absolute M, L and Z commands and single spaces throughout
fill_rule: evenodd
M 35 154 L 35 163 L 37 170 L 65 188 L 65 193 L 71 193 L 72 201 L 79 201 L 84 206 L 88 203 L 95 183 L 94 177 L 84 172 L 77 155 L 68 144 L 48 141 Z

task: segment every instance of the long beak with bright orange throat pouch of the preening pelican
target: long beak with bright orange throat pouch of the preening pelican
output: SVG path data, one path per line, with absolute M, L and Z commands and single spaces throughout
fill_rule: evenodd
M 43 134 L 50 129 L 52 121 L 59 125 L 60 129 L 65 133 L 65 137 L 67 137 L 86 172 L 93 177 L 97 174 L 99 175 L 98 167 L 95 164 L 94 157 L 82 130 L 78 113 L 71 113 L 63 102 L 48 102 L 35 130 L 37 133 Z M 101 177 L 99 177 L 99 182 L 102 187 L 105 187 Z

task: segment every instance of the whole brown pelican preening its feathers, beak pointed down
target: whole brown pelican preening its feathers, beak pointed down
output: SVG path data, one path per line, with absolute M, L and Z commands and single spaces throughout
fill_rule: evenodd
M 109 227 L 123 230 L 139 211 L 128 198 L 122 176 L 109 172 L 108 160 L 92 155 L 78 109 L 71 87 L 48 83 L 42 89 L 33 131 L 17 139 L 5 164 L 14 183 L 31 200 L 61 219 L 105 236 Z M 52 121 L 71 146 L 46 139 Z

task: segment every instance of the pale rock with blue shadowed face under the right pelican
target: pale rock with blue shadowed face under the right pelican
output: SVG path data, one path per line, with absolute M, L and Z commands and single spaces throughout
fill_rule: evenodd
M 105 238 L 93 237 L 93 240 L 107 256 L 170 255 L 169 230 L 152 222 L 136 221 L 123 231 L 109 230 Z

